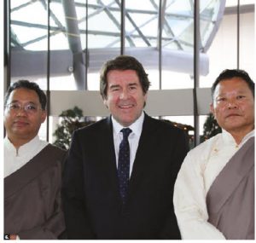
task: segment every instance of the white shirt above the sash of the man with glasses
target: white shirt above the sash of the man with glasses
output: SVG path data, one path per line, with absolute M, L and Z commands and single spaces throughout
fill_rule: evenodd
M 4 148 L 4 177 L 18 171 L 23 165 L 26 165 L 33 157 L 35 157 L 48 142 L 42 141 L 35 136 L 30 142 L 16 149 L 15 146 L 5 136 L 3 140 Z

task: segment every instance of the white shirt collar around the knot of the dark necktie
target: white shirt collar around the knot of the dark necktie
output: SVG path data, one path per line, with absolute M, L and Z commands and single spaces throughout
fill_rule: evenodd
M 145 114 L 142 113 L 140 117 L 129 126 L 129 128 L 132 130 L 131 134 L 135 134 L 137 136 L 140 136 L 143 130 L 143 121 L 144 121 Z M 115 135 L 119 134 L 120 130 L 124 128 L 123 125 L 119 124 L 119 122 L 111 116 L 112 124 L 113 124 L 113 133 Z

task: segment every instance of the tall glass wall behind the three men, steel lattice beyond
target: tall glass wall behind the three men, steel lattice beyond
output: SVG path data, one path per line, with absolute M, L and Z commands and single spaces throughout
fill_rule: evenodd
M 162 90 L 182 90 L 186 94 L 186 90 L 194 89 L 195 67 L 199 70 L 200 89 L 211 87 L 225 68 L 245 69 L 255 80 L 253 0 L 240 1 L 239 11 L 237 1 L 200 1 L 198 62 L 193 1 L 129 0 L 125 6 L 121 0 L 8 0 L 7 3 L 4 5 L 9 35 L 9 44 L 5 44 L 5 54 L 9 54 L 7 86 L 27 78 L 50 94 L 70 91 L 65 93 L 67 99 L 72 92 L 81 90 L 91 91 L 91 97 L 95 97 L 93 92 L 99 90 L 102 64 L 122 51 L 143 63 L 152 84 L 150 90 L 159 91 L 159 96 Z M 193 97 L 182 98 L 193 104 Z M 70 99 L 67 109 L 77 105 Z M 206 106 L 210 103 L 204 102 Z M 79 104 L 85 106 L 84 101 Z M 50 142 L 54 141 L 58 106 L 56 102 L 50 104 L 49 125 L 44 124 L 40 130 L 44 139 L 49 134 Z M 166 101 L 165 106 L 170 107 L 170 112 L 154 116 L 195 126 L 195 109 L 187 112 L 182 102 Z M 172 107 L 178 112 L 172 113 Z M 208 112 L 204 109 L 198 113 L 200 134 Z M 95 113 L 96 119 L 106 115 L 100 109 Z M 84 114 L 91 117 L 86 110 Z M 190 133 L 193 136 L 193 131 Z

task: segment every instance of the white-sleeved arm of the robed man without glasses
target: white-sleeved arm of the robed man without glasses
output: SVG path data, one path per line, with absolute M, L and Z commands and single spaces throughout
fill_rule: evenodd
M 199 159 L 200 154 L 196 157 Z M 184 240 L 225 240 L 224 235 L 207 222 L 203 171 L 194 163 L 191 153 L 184 159 L 177 175 L 173 202 Z

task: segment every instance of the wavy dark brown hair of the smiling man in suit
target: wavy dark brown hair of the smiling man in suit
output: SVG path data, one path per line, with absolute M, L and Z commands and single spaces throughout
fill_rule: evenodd
M 134 70 L 137 72 L 140 84 L 143 88 L 143 93 L 148 92 L 150 82 L 148 80 L 148 74 L 145 72 L 143 65 L 137 61 L 136 58 L 130 55 L 119 55 L 113 60 L 107 61 L 101 70 L 100 76 L 100 91 L 103 99 L 107 98 L 108 80 L 107 75 L 111 70 Z

